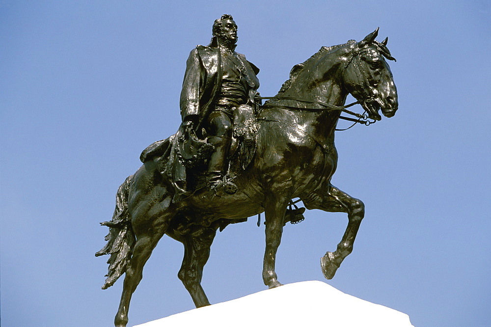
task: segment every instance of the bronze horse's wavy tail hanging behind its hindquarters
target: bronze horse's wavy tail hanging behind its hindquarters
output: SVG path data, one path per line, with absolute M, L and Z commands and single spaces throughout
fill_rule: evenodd
M 109 272 L 103 290 L 112 286 L 114 282 L 126 272 L 126 266 L 131 259 L 133 247 L 135 246 L 135 233 L 131 227 L 131 219 L 128 214 L 128 195 L 130 193 L 130 182 L 133 175 L 128 176 L 116 193 L 116 209 L 111 221 L 101 222 L 101 225 L 109 227 L 106 236 L 108 244 L 95 255 L 110 254 L 108 264 Z

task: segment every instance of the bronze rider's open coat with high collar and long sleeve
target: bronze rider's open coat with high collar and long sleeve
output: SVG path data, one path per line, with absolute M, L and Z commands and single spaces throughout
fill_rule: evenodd
M 249 85 L 257 89 L 259 69 L 248 62 L 244 54 L 237 55 L 244 63 L 246 79 L 251 81 Z M 220 49 L 217 38 L 213 37 L 210 45 L 196 46 L 186 63 L 180 101 L 183 122 L 192 119 L 200 126 L 206 120 L 220 93 L 222 76 Z

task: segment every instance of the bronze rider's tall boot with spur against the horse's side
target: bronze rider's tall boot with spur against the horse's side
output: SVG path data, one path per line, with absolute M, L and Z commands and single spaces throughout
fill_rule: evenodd
M 228 152 L 232 139 L 228 136 L 213 136 L 208 138 L 208 143 L 215 146 L 215 151 L 212 153 L 208 161 L 207 181 L 208 186 L 214 190 L 223 187 L 227 194 L 234 194 L 237 191 L 237 186 L 227 180 L 226 172 L 228 168 Z

